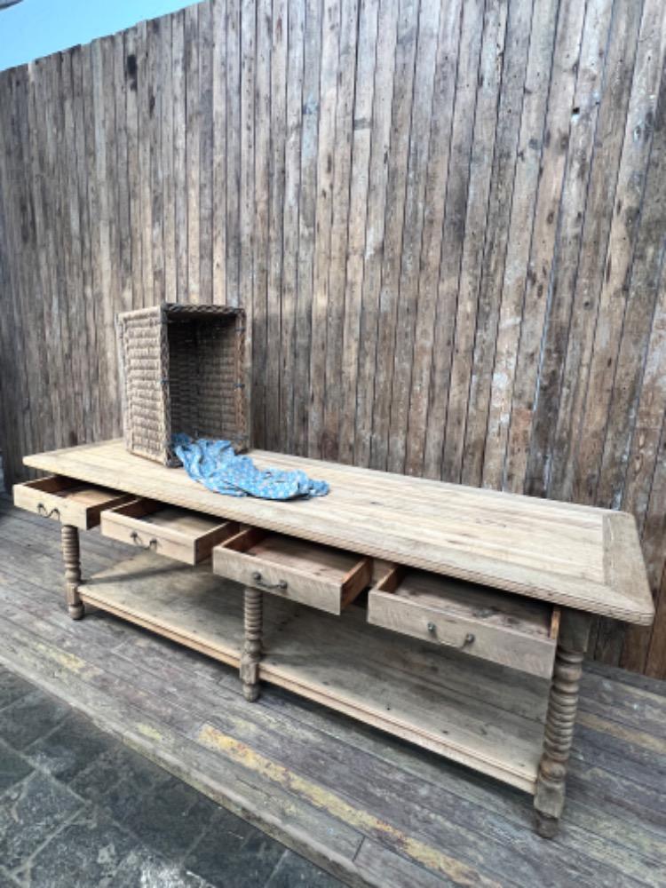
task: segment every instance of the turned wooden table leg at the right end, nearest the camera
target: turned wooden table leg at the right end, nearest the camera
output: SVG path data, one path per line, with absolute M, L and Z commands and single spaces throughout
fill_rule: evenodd
M 576 611 L 562 614 L 543 736 L 543 756 L 536 780 L 536 831 L 543 838 L 557 835 L 564 808 L 567 763 L 574 739 L 578 690 L 589 631 L 588 614 Z

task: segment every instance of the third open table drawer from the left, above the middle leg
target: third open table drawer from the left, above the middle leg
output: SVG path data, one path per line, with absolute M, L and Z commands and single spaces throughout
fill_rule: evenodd
M 372 559 L 248 527 L 217 546 L 213 570 L 281 598 L 340 614 L 372 579 Z

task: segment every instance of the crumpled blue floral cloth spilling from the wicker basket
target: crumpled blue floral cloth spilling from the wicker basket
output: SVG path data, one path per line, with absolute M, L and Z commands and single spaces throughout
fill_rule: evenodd
M 305 472 L 262 471 L 250 456 L 236 456 L 229 441 L 174 435 L 173 445 L 185 471 L 214 493 L 226 496 L 258 496 L 261 499 L 289 500 L 326 496 L 326 481 L 308 478 Z

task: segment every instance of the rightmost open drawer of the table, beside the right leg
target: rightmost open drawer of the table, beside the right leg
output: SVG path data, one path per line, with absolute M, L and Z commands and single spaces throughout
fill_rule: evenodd
M 393 567 L 369 592 L 368 621 L 550 678 L 559 608 L 474 583 Z

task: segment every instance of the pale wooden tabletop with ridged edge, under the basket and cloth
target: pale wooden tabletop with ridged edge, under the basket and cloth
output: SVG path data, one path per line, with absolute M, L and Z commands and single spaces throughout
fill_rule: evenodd
M 123 441 L 27 456 L 44 472 L 148 496 L 530 598 L 648 625 L 654 605 L 625 512 L 465 488 L 252 450 L 259 467 L 302 469 L 328 496 L 288 503 L 211 493 L 184 469 L 132 456 Z

